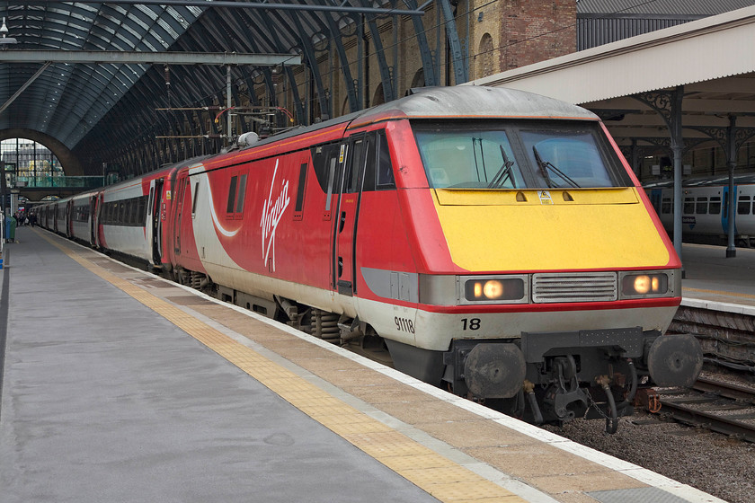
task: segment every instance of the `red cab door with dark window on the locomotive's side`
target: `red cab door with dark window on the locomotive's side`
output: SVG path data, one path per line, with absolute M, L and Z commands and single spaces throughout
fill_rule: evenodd
M 357 228 L 366 159 L 374 155 L 374 134 L 358 134 L 342 145 L 340 154 L 340 198 L 333 225 L 333 287 L 353 296 L 356 291 Z

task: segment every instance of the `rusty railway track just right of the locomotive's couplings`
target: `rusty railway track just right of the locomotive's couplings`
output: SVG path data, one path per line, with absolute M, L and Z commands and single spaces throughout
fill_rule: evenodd
M 660 393 L 662 413 L 677 421 L 755 442 L 755 391 L 700 378 L 692 392 Z

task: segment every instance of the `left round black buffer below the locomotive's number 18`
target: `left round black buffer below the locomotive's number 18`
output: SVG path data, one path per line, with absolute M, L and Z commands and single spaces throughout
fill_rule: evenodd
M 475 396 L 511 398 L 519 393 L 526 368 L 514 344 L 477 344 L 464 362 L 464 380 Z

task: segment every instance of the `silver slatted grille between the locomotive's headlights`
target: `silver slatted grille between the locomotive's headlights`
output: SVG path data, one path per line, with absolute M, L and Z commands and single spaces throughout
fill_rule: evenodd
M 608 302 L 617 299 L 615 272 L 532 275 L 532 302 Z

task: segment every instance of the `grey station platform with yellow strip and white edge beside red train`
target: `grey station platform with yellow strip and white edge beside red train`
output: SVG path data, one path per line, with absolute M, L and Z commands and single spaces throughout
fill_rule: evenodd
M 16 238 L 4 503 L 721 501 L 47 231 Z

